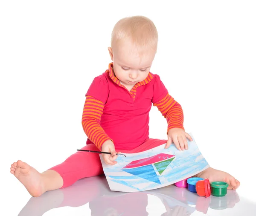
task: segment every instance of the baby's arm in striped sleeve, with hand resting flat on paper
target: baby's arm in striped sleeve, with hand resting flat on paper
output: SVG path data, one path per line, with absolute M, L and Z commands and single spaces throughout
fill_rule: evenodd
M 162 100 L 153 105 L 157 107 L 168 122 L 168 140 L 165 148 L 168 148 L 173 141 L 178 150 L 184 150 L 184 147 L 187 149 L 188 143 L 186 138 L 189 138 L 190 141 L 192 141 L 192 138 L 184 130 L 183 110 L 180 104 L 167 93 Z

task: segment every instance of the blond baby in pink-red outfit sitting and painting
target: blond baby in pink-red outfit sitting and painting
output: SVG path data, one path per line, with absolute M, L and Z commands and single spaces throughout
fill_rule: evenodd
M 160 77 L 150 72 L 157 52 L 158 33 L 146 17 L 134 16 L 119 20 L 113 28 L 112 63 L 94 78 L 84 104 L 82 127 L 87 135 L 83 150 L 101 150 L 106 164 L 116 164 L 116 153 L 138 153 L 172 143 L 178 150 L 188 149 L 192 138 L 183 127 L 180 104 L 169 95 Z M 156 106 L 168 122 L 167 140 L 151 139 L 149 111 Z M 79 151 L 63 163 L 39 173 L 23 161 L 14 162 L 11 173 L 32 196 L 68 187 L 79 179 L 103 174 L 99 155 Z M 240 182 L 228 173 L 211 167 L 195 177 L 209 181 L 225 181 L 228 189 L 236 190 Z

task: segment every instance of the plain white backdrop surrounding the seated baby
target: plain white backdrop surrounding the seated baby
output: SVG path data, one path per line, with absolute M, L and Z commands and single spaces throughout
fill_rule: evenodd
M 131 15 L 158 29 L 151 72 L 181 104 L 186 132 L 212 167 L 239 179 L 240 196 L 256 201 L 255 3 L 159 2 L 1 1 L 0 185 L 8 215 L 30 198 L 9 173 L 14 161 L 43 172 L 85 145 L 85 93 L 111 62 L 114 24 Z M 150 118 L 151 138 L 165 139 L 156 107 Z

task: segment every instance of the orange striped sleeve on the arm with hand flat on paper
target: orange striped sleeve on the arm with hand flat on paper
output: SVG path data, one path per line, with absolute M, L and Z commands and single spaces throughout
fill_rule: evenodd
M 184 130 L 183 127 L 183 110 L 180 104 L 175 101 L 171 95 L 167 93 L 167 95 L 160 101 L 153 104 L 157 107 L 157 109 L 162 113 L 164 118 L 166 118 L 168 122 L 167 132 L 174 128 L 179 127 Z

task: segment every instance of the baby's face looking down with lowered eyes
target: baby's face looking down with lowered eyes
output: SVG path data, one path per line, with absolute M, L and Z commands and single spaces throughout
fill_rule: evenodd
M 140 58 L 137 48 L 125 41 L 112 50 L 113 71 L 116 78 L 126 86 L 134 86 L 147 78 L 156 52 L 148 52 Z

